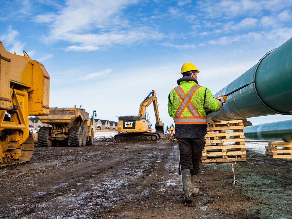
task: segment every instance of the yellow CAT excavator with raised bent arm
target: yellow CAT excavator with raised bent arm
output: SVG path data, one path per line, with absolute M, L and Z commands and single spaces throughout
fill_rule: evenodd
M 152 132 L 149 115 L 146 113 L 147 107 L 153 102 L 156 124 L 156 133 Z M 164 124 L 160 121 L 158 113 L 158 104 L 155 91 L 149 95 L 140 104 L 138 116 L 121 116 L 118 121 L 119 134 L 114 139 L 120 141 L 157 141 L 160 138 L 159 133 L 164 133 Z

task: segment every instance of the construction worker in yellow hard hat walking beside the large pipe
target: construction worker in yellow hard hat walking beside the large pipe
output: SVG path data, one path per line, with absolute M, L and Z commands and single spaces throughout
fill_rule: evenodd
M 178 79 L 178 86 L 168 95 L 168 114 L 175 122 L 175 137 L 179 143 L 178 173 L 183 180 L 184 198 L 187 203 L 192 202 L 195 192 L 199 193 L 199 189 L 194 189 L 194 181 L 199 173 L 199 162 L 205 146 L 206 109 L 218 111 L 227 98 L 225 95 L 214 98 L 208 88 L 199 86 L 198 73 L 194 64 L 183 64 L 180 72 L 183 77 Z

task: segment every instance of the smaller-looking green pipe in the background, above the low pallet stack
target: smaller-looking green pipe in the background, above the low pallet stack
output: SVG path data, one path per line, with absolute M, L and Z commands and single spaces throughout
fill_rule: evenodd
M 287 141 L 292 142 L 292 119 L 244 127 L 248 141 Z

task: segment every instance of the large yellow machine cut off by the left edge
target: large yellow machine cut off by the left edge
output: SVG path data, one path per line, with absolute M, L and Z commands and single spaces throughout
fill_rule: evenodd
M 9 53 L 0 41 L 0 167 L 29 161 L 34 142 L 28 116 L 49 114 L 49 74 L 23 53 Z

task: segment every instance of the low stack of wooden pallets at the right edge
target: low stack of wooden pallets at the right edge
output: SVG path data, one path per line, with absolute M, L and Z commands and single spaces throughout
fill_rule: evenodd
M 273 158 L 292 158 L 292 142 L 269 141 L 265 155 Z

